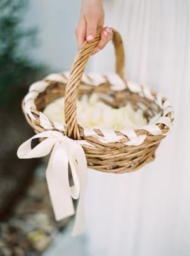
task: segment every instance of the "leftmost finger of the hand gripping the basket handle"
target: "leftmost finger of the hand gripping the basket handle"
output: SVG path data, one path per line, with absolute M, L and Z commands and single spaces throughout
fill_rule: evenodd
M 75 30 L 75 35 L 77 37 L 78 50 L 80 50 L 80 47 L 84 43 L 86 37 L 86 22 L 84 17 L 80 17 L 77 28 Z

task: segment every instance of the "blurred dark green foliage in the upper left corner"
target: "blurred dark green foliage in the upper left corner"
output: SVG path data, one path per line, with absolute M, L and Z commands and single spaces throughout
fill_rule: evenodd
M 32 47 L 37 33 L 35 28 L 22 28 L 27 6 L 28 0 L 0 0 L 0 104 L 11 102 L 15 86 L 29 84 L 43 70 L 20 49 L 23 40 Z

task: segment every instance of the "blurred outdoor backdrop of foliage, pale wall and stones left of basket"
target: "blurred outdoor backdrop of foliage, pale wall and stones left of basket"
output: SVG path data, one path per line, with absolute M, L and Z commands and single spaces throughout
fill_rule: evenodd
M 69 222 L 54 221 L 46 166 L 38 159 L 21 161 L 16 150 L 34 135 L 21 109 L 28 86 L 70 69 L 79 9 L 79 1 L 0 1 L 1 256 L 39 255 Z

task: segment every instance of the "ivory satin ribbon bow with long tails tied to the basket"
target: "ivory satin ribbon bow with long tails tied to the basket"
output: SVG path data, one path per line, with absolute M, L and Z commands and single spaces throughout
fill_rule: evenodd
M 33 149 L 34 138 L 46 138 Z M 52 151 L 52 152 L 51 152 Z M 66 137 L 60 131 L 43 131 L 24 142 L 17 151 L 18 158 L 41 158 L 51 152 L 46 170 L 47 187 L 56 220 L 75 213 L 73 199 L 78 199 L 77 213 L 72 234 L 80 234 L 84 229 L 84 194 L 87 182 L 87 162 L 82 146 L 77 140 Z M 74 185 L 70 186 L 68 168 Z

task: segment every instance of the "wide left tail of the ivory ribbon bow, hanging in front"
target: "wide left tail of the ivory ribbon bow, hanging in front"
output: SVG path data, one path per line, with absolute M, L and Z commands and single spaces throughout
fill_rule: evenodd
M 68 154 L 64 144 L 54 145 L 46 170 L 46 180 L 55 219 L 58 221 L 75 214 L 68 191 Z

